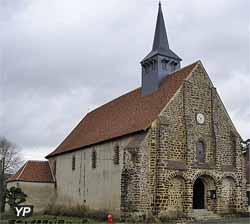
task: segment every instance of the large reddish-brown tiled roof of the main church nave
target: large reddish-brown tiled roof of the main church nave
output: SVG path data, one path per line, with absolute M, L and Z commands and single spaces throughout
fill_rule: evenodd
M 146 130 L 197 64 L 168 75 L 150 95 L 142 96 L 138 88 L 88 113 L 46 158 Z

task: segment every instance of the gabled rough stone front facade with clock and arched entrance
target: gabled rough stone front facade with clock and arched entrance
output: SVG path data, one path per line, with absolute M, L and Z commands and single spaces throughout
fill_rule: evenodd
M 197 123 L 197 113 L 205 116 L 204 124 Z M 198 178 L 205 186 L 205 208 L 218 213 L 245 211 L 240 140 L 216 89 L 199 64 L 149 131 L 145 190 L 151 195 L 152 213 L 190 214 L 193 186 Z M 204 162 L 197 158 L 198 141 L 205 145 Z M 211 198 L 211 191 L 216 191 L 216 198 Z

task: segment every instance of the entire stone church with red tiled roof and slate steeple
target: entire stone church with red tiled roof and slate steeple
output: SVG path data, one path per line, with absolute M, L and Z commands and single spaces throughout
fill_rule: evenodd
M 123 219 L 246 211 L 241 137 L 201 61 L 181 67 L 170 49 L 160 4 L 141 69 L 140 88 L 89 112 L 46 156 L 47 204 Z M 17 177 L 9 185 L 29 182 Z

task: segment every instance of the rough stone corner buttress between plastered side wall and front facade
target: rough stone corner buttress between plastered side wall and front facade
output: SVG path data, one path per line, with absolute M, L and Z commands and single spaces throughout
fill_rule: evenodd
M 150 152 L 148 137 L 138 145 L 124 148 L 121 176 L 121 219 L 139 221 L 151 216 L 152 193 L 148 184 Z M 152 156 L 152 155 L 151 155 Z

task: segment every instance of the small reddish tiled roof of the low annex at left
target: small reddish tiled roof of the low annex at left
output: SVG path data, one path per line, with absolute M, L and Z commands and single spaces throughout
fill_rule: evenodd
M 7 182 L 26 181 L 53 183 L 54 179 L 48 161 L 27 161 Z

